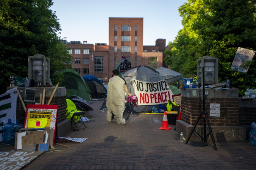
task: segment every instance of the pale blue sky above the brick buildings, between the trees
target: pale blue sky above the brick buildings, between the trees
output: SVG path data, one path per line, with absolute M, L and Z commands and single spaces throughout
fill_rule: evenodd
M 143 18 L 143 45 L 173 42 L 182 29 L 178 8 L 188 0 L 53 0 L 60 36 L 88 44 L 108 43 L 108 18 Z

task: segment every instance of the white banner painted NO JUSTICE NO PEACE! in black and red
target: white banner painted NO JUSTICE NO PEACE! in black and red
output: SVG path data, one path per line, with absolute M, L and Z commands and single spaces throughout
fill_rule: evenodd
M 164 80 L 154 83 L 134 80 L 133 88 L 138 97 L 138 105 L 158 105 L 167 103 L 167 100 L 173 101 L 173 93 Z

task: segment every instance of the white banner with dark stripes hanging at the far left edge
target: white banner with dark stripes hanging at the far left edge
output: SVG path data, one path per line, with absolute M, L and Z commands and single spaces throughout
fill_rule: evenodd
M 8 123 L 8 119 L 12 119 L 12 123 L 16 124 L 17 98 L 17 88 L 12 88 L 0 95 L 0 131 L 2 131 L 2 125 Z M 2 141 L 2 133 L 0 133 L 0 141 Z

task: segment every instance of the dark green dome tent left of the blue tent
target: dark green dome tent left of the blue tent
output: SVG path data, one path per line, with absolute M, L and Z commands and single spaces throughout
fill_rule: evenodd
M 91 91 L 78 72 L 72 69 L 65 69 L 60 73 L 66 77 L 60 86 L 66 87 L 68 95 L 79 96 L 80 98 L 84 98 L 88 104 L 92 103 Z

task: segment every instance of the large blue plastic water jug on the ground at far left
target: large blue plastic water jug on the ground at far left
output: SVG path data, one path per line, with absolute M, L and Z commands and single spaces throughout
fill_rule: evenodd
M 14 145 L 14 141 L 12 139 L 12 134 L 14 132 L 14 123 L 12 123 L 12 119 L 8 119 L 8 123 L 2 126 L 2 143 L 8 145 Z

